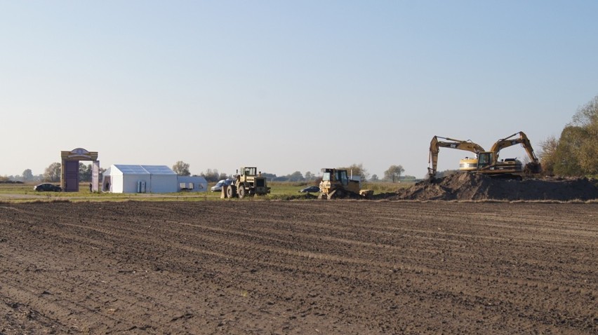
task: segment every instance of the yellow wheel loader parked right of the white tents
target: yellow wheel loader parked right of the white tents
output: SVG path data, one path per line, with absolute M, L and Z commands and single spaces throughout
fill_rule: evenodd
M 258 172 L 257 167 L 241 167 L 234 175 L 234 184 L 222 187 L 221 198 L 245 198 L 246 196 L 264 196 L 270 193 L 267 180 Z

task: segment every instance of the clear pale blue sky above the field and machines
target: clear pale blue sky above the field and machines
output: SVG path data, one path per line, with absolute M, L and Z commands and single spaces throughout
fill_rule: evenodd
M 60 151 L 424 177 L 434 135 L 559 137 L 598 95 L 598 1 L 0 0 L 0 175 Z M 452 152 L 451 152 L 452 151 Z M 524 158 L 514 146 L 503 158 Z M 465 151 L 441 149 L 439 170 Z

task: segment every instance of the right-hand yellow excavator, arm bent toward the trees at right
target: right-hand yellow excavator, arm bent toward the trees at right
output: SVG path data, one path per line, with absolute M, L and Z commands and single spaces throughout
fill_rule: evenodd
M 514 138 L 516 135 L 519 135 L 519 137 Z M 530 161 L 525 166 L 521 160 L 516 158 L 498 159 L 500 150 L 515 144 L 521 144 L 529 157 Z M 477 168 L 473 170 L 477 173 L 493 177 L 517 177 L 521 179 L 523 175 L 534 175 L 542 172 L 540 160 L 533 153 L 531 143 L 524 132 L 515 132 L 513 135 L 499 139 L 493 144 L 490 151 L 482 151 L 477 155 Z

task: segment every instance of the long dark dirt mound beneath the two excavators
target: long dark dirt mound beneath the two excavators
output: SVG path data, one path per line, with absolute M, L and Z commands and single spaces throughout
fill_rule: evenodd
M 458 173 L 401 189 L 391 200 L 590 200 L 598 181 L 587 178 L 500 179 Z

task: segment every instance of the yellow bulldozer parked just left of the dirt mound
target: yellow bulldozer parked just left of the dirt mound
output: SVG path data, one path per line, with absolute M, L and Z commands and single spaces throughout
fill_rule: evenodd
M 370 198 L 373 195 L 372 190 L 362 190 L 361 182 L 349 177 L 347 170 L 324 168 L 321 172 L 321 199 Z

